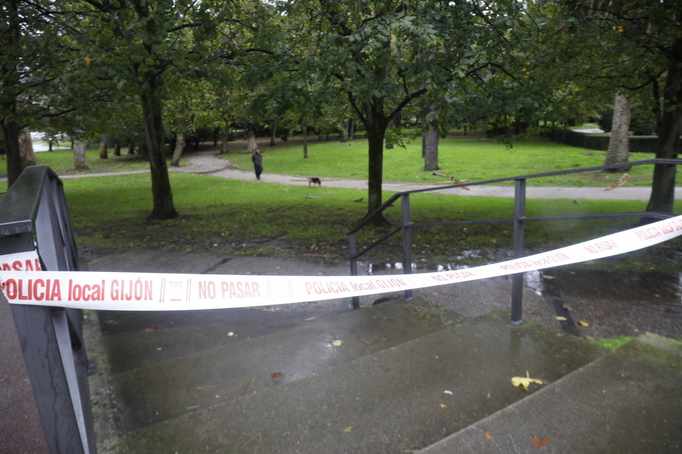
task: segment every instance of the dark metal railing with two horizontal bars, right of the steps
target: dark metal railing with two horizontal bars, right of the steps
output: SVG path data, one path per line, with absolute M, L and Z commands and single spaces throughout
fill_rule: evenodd
M 412 274 L 412 252 L 411 252 L 411 233 L 413 229 L 421 227 L 436 227 L 441 225 L 472 225 L 472 224 L 496 224 L 496 223 L 513 223 L 514 224 L 514 258 L 518 259 L 524 256 L 525 243 L 525 224 L 529 221 L 567 221 L 570 219 L 608 219 L 608 218 L 657 218 L 665 219 L 672 216 L 670 213 L 662 212 L 622 212 L 622 213 L 603 213 L 603 214 L 572 214 L 565 216 L 526 216 L 526 181 L 531 178 L 543 178 L 547 176 L 578 174 L 582 172 L 595 172 L 604 169 L 616 169 L 622 167 L 635 167 L 638 165 L 651 164 L 668 164 L 681 165 L 682 159 L 647 159 L 644 161 L 634 161 L 626 164 L 609 164 L 599 165 L 597 167 L 582 167 L 579 169 L 559 170 L 557 172 L 546 172 L 543 174 L 528 174 L 520 176 L 512 176 L 508 178 L 497 178 L 496 180 L 485 180 L 477 182 L 467 182 L 466 184 L 450 184 L 443 187 L 415 189 L 414 191 L 404 191 L 395 193 L 387 201 L 385 201 L 374 212 L 368 214 L 362 221 L 360 221 L 353 229 L 347 231 L 349 236 L 349 259 L 351 261 L 351 275 L 357 276 L 357 259 L 362 255 L 368 253 L 375 246 L 383 243 L 389 237 L 393 236 L 398 231 L 402 232 L 402 268 L 404 274 Z M 461 187 L 479 186 L 482 184 L 495 184 L 507 181 L 514 181 L 514 216 L 511 218 L 501 219 L 486 219 L 480 221 L 452 221 L 442 223 L 413 223 L 410 214 L 410 195 L 416 193 L 427 193 L 433 191 L 443 191 L 444 189 L 455 189 Z M 381 236 L 379 240 L 372 242 L 362 250 L 357 249 L 356 233 L 372 221 L 374 216 L 381 214 L 383 210 L 394 204 L 400 199 L 401 220 L 400 225 L 391 229 L 388 233 Z M 509 323 L 518 325 L 523 323 L 522 306 L 523 306 L 523 272 L 512 274 L 511 276 L 511 318 Z M 412 299 L 413 291 L 406 290 L 404 293 L 405 299 Z M 353 297 L 353 308 L 359 308 L 359 297 Z

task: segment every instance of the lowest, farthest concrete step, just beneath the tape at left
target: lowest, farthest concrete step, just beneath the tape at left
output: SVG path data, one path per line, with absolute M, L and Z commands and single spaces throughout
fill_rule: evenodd
M 125 372 L 218 346 L 272 334 L 341 310 L 234 308 L 173 312 L 100 311 L 102 343 L 111 372 Z M 232 332 L 233 336 L 227 334 Z

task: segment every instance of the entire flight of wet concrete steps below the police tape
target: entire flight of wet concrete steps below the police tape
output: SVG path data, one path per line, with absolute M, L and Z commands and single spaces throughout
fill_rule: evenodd
M 677 342 L 612 352 L 423 299 L 265 309 L 92 314 L 98 452 L 682 452 Z

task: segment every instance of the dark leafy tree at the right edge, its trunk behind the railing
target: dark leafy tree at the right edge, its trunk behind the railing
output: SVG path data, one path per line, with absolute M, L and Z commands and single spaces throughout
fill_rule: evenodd
M 576 43 L 576 47 L 598 43 L 609 49 L 598 54 L 593 50 L 595 58 L 584 76 L 595 86 L 632 91 L 651 88 L 657 117 L 656 157 L 677 157 L 682 128 L 680 1 L 560 0 L 557 3 L 565 8 L 564 33 L 574 37 L 569 41 Z M 672 212 L 675 174 L 675 165 L 655 165 L 647 211 Z

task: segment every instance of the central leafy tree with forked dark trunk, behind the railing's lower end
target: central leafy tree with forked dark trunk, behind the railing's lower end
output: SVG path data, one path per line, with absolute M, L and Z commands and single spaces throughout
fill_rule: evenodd
M 291 62 L 345 94 L 368 136 L 368 214 L 382 203 L 386 130 L 415 99 L 457 80 L 506 77 L 520 4 L 291 1 Z M 311 20 L 301 25 L 301 17 Z M 298 28 L 296 28 L 298 27 Z M 294 46 L 294 44 L 299 46 Z M 430 50 L 430 59 L 421 54 Z M 436 99 L 435 96 L 432 97 Z M 385 224 L 383 216 L 372 223 Z

